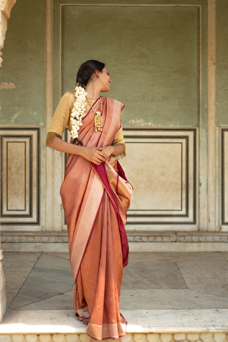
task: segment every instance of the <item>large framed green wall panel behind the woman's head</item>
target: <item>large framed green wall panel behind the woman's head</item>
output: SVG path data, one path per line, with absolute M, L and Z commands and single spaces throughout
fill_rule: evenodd
M 113 82 L 105 95 L 126 105 L 123 125 L 199 126 L 197 7 L 64 6 L 61 48 L 62 94 L 98 59 Z

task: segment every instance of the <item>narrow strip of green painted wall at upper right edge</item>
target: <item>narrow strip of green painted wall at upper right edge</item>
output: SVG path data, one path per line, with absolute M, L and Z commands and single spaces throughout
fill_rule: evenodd
M 228 2 L 217 0 L 217 126 L 228 126 Z

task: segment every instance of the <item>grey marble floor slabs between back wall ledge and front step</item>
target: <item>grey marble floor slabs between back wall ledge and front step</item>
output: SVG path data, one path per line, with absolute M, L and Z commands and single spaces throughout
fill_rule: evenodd
M 49 312 L 50 318 L 61 311 L 73 319 L 74 286 L 68 253 L 4 252 L 3 267 L 8 312 L 0 328 L 13 324 L 19 315 L 28 317 L 29 312 L 40 311 L 42 317 Z M 159 313 L 190 317 L 189 313 L 203 312 L 205 318 L 207 312 L 214 312 L 217 325 L 228 329 L 228 252 L 130 253 L 123 272 L 120 311 L 129 317 L 156 312 L 153 331 L 159 326 Z M 169 324 L 172 322 L 167 321 L 166 327 Z

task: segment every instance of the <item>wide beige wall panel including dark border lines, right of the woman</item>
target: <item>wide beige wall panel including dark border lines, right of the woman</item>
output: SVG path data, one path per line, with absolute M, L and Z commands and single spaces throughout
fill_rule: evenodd
M 196 130 L 129 128 L 124 140 L 120 163 L 134 187 L 128 224 L 197 229 Z

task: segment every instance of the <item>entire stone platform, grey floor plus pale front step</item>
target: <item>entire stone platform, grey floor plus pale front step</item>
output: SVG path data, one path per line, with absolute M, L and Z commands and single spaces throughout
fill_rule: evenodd
M 0 342 L 89 342 L 72 309 L 69 254 L 5 252 Z M 132 252 L 122 342 L 228 342 L 228 252 Z

